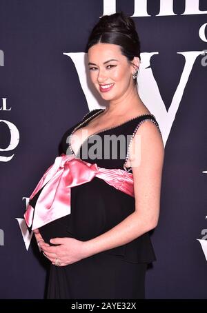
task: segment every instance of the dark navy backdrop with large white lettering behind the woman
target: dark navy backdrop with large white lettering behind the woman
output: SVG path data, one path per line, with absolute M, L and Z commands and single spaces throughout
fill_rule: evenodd
M 23 212 L 63 133 L 101 105 L 83 52 L 99 17 L 120 10 L 136 23 L 140 96 L 166 151 L 146 297 L 207 298 L 206 1 L 1 0 L 1 299 L 43 299 L 47 263 Z

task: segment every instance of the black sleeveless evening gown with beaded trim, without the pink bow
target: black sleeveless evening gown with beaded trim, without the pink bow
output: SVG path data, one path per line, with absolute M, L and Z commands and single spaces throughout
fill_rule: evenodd
M 81 122 L 63 134 L 61 153 L 72 153 L 72 147 L 70 145 L 68 147 L 68 136 L 78 128 L 87 125 L 101 112 L 103 109 L 88 112 Z M 143 114 L 98 133 L 101 139 L 106 134 L 124 135 L 126 137 L 124 157 L 123 151 L 117 145 L 116 158 L 110 156 L 101 159 L 98 156 L 97 159 L 90 159 L 89 155 L 86 157 L 86 149 L 89 150 L 94 142 L 88 139 L 81 145 L 79 157 L 83 159 L 84 148 L 83 161 L 97 163 L 101 168 L 119 168 L 132 172 L 131 168 L 124 168 L 124 162 L 130 139 L 135 136 L 137 128 L 144 121 L 152 121 L 159 129 L 154 115 Z M 90 139 L 92 137 L 93 135 Z M 104 156 L 104 140 L 101 155 Z M 30 205 L 34 209 L 40 192 L 41 190 L 30 200 Z M 95 177 L 88 183 L 71 188 L 71 214 L 44 225 L 39 228 L 39 231 L 48 243 L 51 238 L 66 236 L 88 241 L 107 232 L 134 211 L 134 197 Z M 48 299 L 144 299 L 146 267 L 152 261 L 155 261 L 155 253 L 150 236 L 146 233 L 130 243 L 94 254 L 71 265 L 57 267 L 51 264 L 47 297 Z

